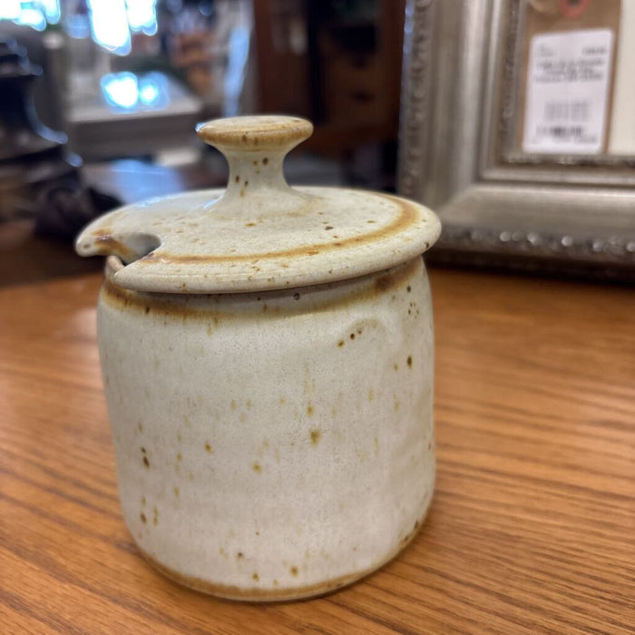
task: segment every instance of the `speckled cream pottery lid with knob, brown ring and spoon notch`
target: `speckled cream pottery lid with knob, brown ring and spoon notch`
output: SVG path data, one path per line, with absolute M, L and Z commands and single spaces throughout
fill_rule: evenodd
M 354 278 L 412 259 L 438 238 L 435 214 L 396 196 L 290 188 L 285 154 L 313 131 L 297 117 L 220 119 L 197 129 L 230 164 L 227 190 L 146 200 L 94 220 L 82 256 L 115 255 L 123 288 L 233 293 Z

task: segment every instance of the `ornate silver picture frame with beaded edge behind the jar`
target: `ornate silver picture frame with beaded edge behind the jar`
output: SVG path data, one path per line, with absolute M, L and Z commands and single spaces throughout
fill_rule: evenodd
M 408 0 L 399 193 L 444 223 L 435 259 L 635 279 L 635 156 L 510 141 L 526 2 Z

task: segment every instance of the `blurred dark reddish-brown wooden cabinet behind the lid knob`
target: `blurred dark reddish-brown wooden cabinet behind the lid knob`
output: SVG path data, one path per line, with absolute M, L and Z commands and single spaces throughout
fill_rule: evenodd
M 308 117 L 328 154 L 396 139 L 405 0 L 254 0 L 260 112 Z

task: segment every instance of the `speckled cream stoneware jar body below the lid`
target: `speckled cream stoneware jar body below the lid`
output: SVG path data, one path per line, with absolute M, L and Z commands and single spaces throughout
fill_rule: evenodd
M 124 290 L 99 347 L 125 521 L 182 583 L 283 600 L 372 572 L 435 480 L 423 259 L 308 288 Z

